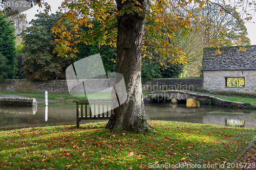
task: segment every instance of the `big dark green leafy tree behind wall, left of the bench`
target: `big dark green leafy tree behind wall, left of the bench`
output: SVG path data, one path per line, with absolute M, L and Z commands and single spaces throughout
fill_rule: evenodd
M 39 13 L 32 19 L 28 27 L 23 31 L 23 65 L 21 69 L 27 79 L 49 80 L 65 79 L 65 70 L 67 66 L 74 61 L 71 57 L 61 58 L 53 52 L 56 43 L 55 34 L 51 32 L 54 23 L 60 19 L 62 13 L 47 15 Z M 63 20 L 63 25 L 65 25 Z M 68 28 L 68 26 L 67 26 Z

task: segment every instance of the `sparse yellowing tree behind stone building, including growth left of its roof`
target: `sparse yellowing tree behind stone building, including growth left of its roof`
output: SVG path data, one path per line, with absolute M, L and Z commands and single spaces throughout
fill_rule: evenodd
M 185 65 L 188 77 L 200 76 L 204 47 L 250 44 L 244 21 L 236 9 L 229 6 L 225 6 L 225 9 L 232 15 L 223 12 L 216 4 L 196 8 L 193 11 L 196 16 L 196 19 L 190 19 L 193 30 L 189 37 L 180 36 L 177 41 L 177 45 L 184 50 L 188 59 Z

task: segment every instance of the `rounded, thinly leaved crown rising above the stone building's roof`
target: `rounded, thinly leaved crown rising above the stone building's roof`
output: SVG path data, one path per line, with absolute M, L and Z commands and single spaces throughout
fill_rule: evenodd
M 225 11 L 224 11 L 225 9 Z M 244 20 L 236 8 L 209 4 L 194 11 L 197 19 L 191 20 L 194 30 L 215 47 L 230 45 L 249 45 Z

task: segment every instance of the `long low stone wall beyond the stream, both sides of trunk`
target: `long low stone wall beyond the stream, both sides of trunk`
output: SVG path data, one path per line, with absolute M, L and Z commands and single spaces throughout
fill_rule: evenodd
M 94 89 L 100 89 L 100 83 L 103 79 L 92 82 L 90 86 Z M 103 80 L 104 81 L 104 80 Z M 100 83 L 99 83 L 100 82 Z M 113 83 L 113 82 L 112 82 Z M 153 79 L 142 85 L 143 90 L 158 90 L 159 88 L 167 88 L 169 90 L 193 90 L 202 88 L 203 79 Z M 50 80 L 50 81 L 31 81 L 31 80 L 6 80 L 0 82 L 0 91 L 18 91 L 18 92 L 69 92 L 66 80 Z

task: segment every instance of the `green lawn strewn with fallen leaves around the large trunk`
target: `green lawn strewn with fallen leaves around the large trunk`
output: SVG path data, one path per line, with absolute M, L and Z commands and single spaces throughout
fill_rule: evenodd
M 112 133 L 104 129 L 105 123 L 2 131 L 0 168 L 149 169 L 187 162 L 227 169 L 228 163 L 241 158 L 256 132 L 150 120 L 154 132 L 138 135 Z M 226 167 L 219 168 L 223 162 Z

